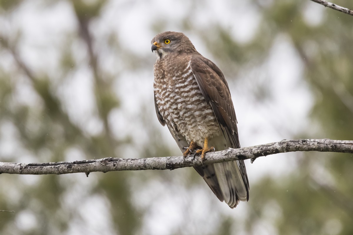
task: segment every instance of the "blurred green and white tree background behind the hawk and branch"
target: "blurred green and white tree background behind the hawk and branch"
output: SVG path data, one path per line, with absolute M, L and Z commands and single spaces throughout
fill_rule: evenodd
M 243 147 L 352 140 L 352 21 L 309 0 L 0 0 L 0 161 L 180 155 L 153 101 L 169 30 L 225 74 Z M 192 168 L 2 174 L 0 234 L 353 234 L 351 154 L 246 166 L 234 210 Z

